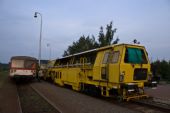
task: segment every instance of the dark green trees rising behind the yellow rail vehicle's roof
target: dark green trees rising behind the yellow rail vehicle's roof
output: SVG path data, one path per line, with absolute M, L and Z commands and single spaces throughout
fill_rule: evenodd
M 64 51 L 63 57 L 71 54 L 87 51 L 90 49 L 95 49 L 98 47 L 103 47 L 111 44 L 116 44 L 119 38 L 113 40 L 114 34 L 117 28 L 113 28 L 113 22 L 111 21 L 106 25 L 106 32 L 104 33 L 103 26 L 100 27 L 98 40 L 96 41 L 95 36 L 81 36 L 78 41 L 73 42 L 72 45 L 68 46 L 67 50 Z

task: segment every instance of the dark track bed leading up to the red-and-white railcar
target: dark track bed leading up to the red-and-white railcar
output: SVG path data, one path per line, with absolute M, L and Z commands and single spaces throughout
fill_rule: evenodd
M 17 85 L 23 113 L 59 113 L 40 95 L 38 95 L 29 84 Z

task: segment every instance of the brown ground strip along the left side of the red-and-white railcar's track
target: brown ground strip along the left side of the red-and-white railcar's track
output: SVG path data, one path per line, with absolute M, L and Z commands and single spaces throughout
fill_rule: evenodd
M 20 113 L 21 108 L 15 83 L 8 72 L 0 72 L 0 113 Z

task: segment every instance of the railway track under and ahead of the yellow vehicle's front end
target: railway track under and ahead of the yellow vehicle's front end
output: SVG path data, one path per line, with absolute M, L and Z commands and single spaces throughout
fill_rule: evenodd
M 118 102 L 110 98 L 102 98 L 102 100 L 141 113 L 169 113 L 170 111 L 170 100 L 163 98 L 147 98 L 128 102 Z

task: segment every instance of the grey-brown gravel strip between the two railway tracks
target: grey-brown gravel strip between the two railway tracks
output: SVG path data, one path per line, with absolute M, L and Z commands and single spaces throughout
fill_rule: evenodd
M 32 87 L 41 92 L 63 113 L 137 113 L 44 81 L 33 83 Z

